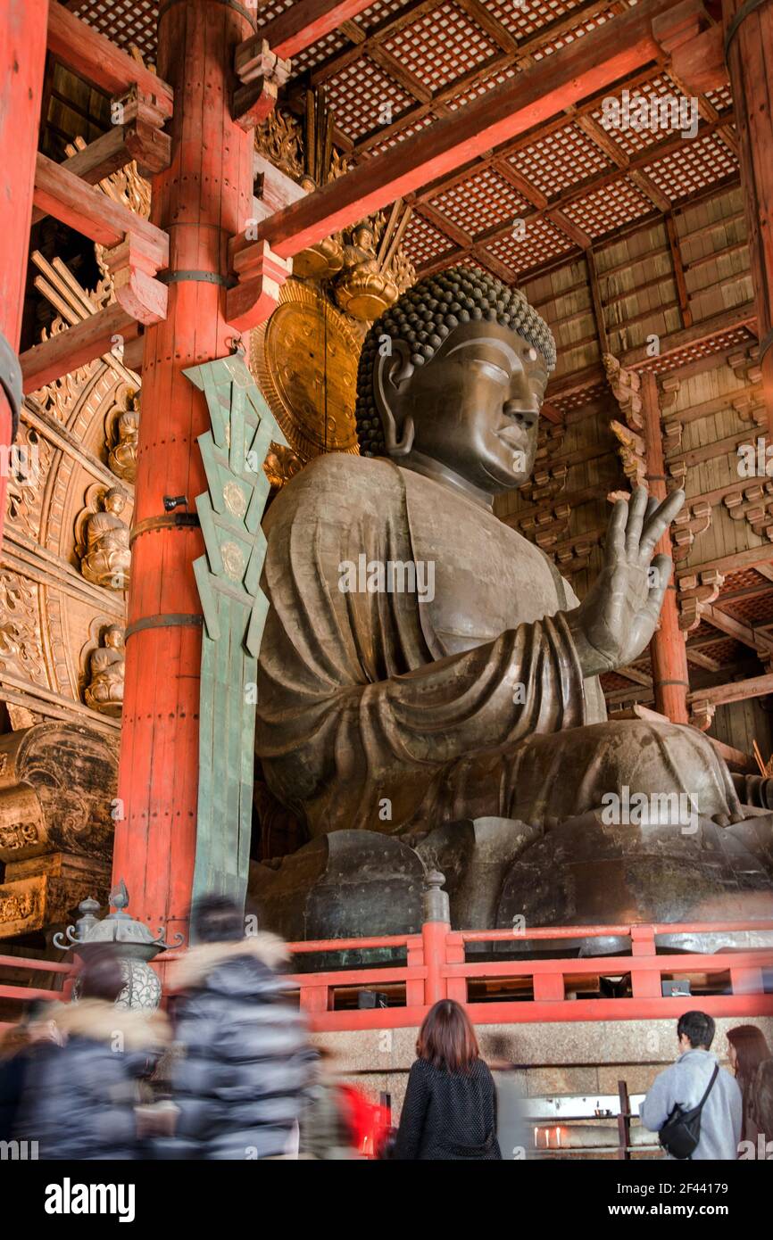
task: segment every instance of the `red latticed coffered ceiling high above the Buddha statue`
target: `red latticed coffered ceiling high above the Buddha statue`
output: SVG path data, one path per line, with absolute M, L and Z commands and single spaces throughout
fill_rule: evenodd
M 293 0 L 249 6 L 261 25 Z M 584 38 L 635 0 L 376 0 L 293 58 L 288 89 L 323 86 L 340 146 L 359 162 Z M 155 0 L 69 0 L 123 47 L 155 55 Z M 654 63 L 620 84 L 685 98 Z M 604 92 L 604 95 L 609 92 Z M 470 161 L 412 195 L 404 238 L 419 273 L 476 262 L 507 283 L 570 259 L 622 228 L 679 211 L 738 179 L 727 88 L 699 97 L 694 138 L 607 131 L 602 99 Z

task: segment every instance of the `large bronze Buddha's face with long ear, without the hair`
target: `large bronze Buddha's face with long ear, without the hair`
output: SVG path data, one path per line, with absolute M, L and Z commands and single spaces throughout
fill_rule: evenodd
M 375 382 L 400 436 L 412 420 L 408 456 L 421 453 L 489 495 L 531 475 L 547 367 L 510 327 L 460 324 L 424 366 L 413 366 L 408 346 L 395 341 Z

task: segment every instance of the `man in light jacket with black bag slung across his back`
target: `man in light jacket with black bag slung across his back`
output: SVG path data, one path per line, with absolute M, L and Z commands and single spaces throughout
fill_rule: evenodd
M 736 1159 L 743 1121 L 741 1090 L 711 1053 L 715 1023 L 705 1012 L 685 1012 L 676 1037 L 681 1054 L 660 1073 L 639 1115 L 671 1158 Z

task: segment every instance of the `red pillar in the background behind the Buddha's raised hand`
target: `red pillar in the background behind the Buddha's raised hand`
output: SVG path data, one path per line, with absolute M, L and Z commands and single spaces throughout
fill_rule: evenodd
M 641 420 L 644 423 L 646 476 L 650 495 L 654 495 L 658 500 L 665 500 L 666 482 L 658 379 L 654 374 L 646 372 L 641 374 Z M 671 534 L 668 529 L 655 551 L 672 557 Z M 660 711 L 661 714 L 666 714 L 671 723 L 687 723 L 690 718 L 687 713 L 687 692 L 690 688 L 687 650 L 684 634 L 679 627 L 676 585 L 672 573 L 663 600 L 660 626 L 656 629 L 649 649 L 653 661 L 655 709 Z

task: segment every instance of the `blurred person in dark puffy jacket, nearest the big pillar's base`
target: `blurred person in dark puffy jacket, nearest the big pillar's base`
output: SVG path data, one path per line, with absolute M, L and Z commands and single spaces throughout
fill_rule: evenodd
M 171 1158 L 280 1158 L 298 1154 L 299 1118 L 315 1078 L 315 1052 L 278 968 L 285 945 L 244 937 L 239 906 L 205 897 L 192 910 L 197 946 L 171 975 L 171 1074 L 179 1109 Z

